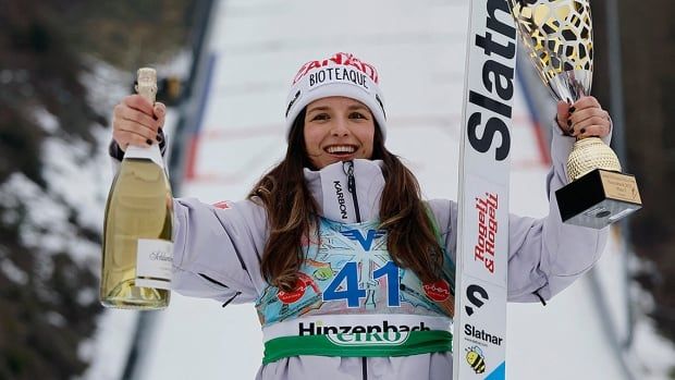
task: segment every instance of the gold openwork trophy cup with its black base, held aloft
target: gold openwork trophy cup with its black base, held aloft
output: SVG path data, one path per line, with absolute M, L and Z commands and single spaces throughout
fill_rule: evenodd
M 539 76 L 557 100 L 590 94 L 593 32 L 589 0 L 507 0 Z M 640 209 L 635 177 L 621 172 L 598 137 L 577 139 L 567 160 L 569 183 L 555 192 L 565 223 L 602 229 Z

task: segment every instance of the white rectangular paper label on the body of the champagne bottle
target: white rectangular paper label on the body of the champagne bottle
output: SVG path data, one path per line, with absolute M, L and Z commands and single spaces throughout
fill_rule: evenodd
M 136 286 L 171 289 L 173 243 L 139 238 L 136 249 Z

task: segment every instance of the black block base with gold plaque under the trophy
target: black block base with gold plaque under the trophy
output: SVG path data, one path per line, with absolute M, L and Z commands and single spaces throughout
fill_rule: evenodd
M 635 176 L 596 169 L 555 192 L 564 223 L 603 229 L 642 208 Z

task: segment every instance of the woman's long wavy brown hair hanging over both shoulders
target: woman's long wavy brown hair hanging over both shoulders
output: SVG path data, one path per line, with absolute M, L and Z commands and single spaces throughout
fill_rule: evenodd
M 307 157 L 303 133 L 305 113 L 303 110 L 293 123 L 284 160 L 265 174 L 248 195 L 249 199 L 260 201 L 268 214 L 270 235 L 260 263 L 262 275 L 283 291 L 295 287 L 305 259 L 300 243 L 309 236 L 319 217 L 303 170 L 315 169 Z M 372 159 L 384 162 L 380 229 L 389 234 L 386 247 L 392 260 L 413 270 L 425 283 L 438 281 L 443 255 L 421 200 L 419 183 L 398 157 L 386 150 L 377 123 Z

